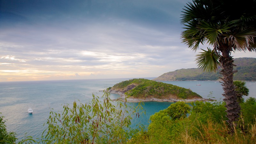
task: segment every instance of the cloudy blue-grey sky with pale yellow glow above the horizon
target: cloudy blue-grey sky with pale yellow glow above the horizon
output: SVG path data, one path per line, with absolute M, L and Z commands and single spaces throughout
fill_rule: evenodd
M 0 82 L 158 77 L 197 68 L 199 51 L 180 39 L 181 12 L 191 1 L 0 0 Z

